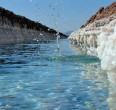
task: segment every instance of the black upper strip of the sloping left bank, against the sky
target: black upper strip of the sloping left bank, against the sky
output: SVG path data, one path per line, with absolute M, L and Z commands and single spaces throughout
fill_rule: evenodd
M 44 32 L 48 33 L 57 33 L 56 30 L 50 29 L 49 27 L 36 22 L 32 21 L 24 16 L 16 15 L 13 12 L 6 10 L 2 7 L 0 7 L 0 16 L 1 16 L 1 24 L 2 25 L 12 25 L 15 27 L 15 24 L 18 24 L 20 28 L 27 28 L 27 29 L 34 29 L 34 30 L 43 30 Z M 8 19 L 10 21 L 10 24 L 6 21 Z M 63 35 L 62 33 L 60 33 Z M 65 36 L 65 35 L 64 35 Z

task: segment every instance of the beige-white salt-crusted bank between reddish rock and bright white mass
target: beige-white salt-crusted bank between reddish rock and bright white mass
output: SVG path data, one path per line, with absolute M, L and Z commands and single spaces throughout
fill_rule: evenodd
M 86 27 L 71 33 L 69 39 L 71 40 L 71 44 L 82 47 L 82 50 L 86 51 L 87 54 L 97 56 L 97 47 L 101 42 L 101 34 L 112 34 L 114 32 L 115 24 L 116 16 L 114 15 L 101 20 L 96 20 Z

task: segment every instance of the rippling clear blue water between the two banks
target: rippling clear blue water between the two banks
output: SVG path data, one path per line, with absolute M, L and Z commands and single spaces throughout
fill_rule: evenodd
M 1 46 L 0 110 L 109 110 L 106 72 L 68 40 Z

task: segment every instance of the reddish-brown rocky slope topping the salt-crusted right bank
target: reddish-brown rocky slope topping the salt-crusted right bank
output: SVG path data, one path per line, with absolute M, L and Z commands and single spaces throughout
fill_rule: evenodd
M 116 2 L 112 3 L 110 6 L 106 8 L 101 7 L 99 11 L 86 22 L 86 24 L 81 26 L 81 28 L 87 26 L 90 23 L 93 23 L 96 20 L 108 18 L 111 15 L 116 15 Z

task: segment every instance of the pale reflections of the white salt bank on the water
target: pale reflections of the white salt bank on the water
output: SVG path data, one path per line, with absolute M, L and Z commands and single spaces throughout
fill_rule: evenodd
M 80 55 L 85 54 L 84 51 L 75 45 L 71 45 L 73 50 Z M 107 89 L 109 91 L 107 102 L 110 110 L 116 110 L 116 73 L 112 70 L 106 74 L 106 71 L 101 70 L 99 63 L 91 63 L 83 66 L 84 70 L 83 78 L 85 79 L 94 79 L 95 82 L 98 82 L 98 88 Z M 79 69 L 79 68 L 77 68 Z M 103 84 L 104 81 L 104 84 Z

